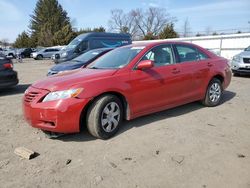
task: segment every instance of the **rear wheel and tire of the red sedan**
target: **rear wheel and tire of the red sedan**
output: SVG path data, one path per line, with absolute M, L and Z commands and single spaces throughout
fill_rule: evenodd
M 202 100 L 202 104 L 208 107 L 217 106 L 222 98 L 222 83 L 219 79 L 213 78 L 206 91 L 206 96 Z

